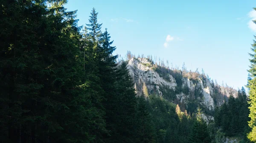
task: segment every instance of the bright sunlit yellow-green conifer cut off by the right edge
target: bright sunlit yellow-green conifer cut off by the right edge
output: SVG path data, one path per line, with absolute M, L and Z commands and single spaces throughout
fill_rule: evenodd
M 253 8 L 256 11 L 256 8 Z M 253 21 L 254 23 L 256 23 L 256 20 Z M 254 38 L 256 38 L 256 36 L 254 36 Z M 249 88 L 249 104 L 250 104 L 250 121 L 249 121 L 249 126 L 251 128 L 251 132 L 248 134 L 248 138 L 253 141 L 256 142 L 256 41 L 253 41 L 252 44 L 252 48 L 251 50 L 253 51 L 253 53 L 250 53 L 250 56 L 252 57 L 252 59 L 250 59 L 250 69 L 248 70 L 248 72 L 250 73 L 250 80 L 248 80 L 248 85 L 247 87 Z

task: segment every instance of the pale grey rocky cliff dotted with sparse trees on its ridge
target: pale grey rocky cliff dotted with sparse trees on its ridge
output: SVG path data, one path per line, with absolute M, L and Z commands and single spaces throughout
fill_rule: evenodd
M 232 90 L 214 84 L 198 72 L 170 70 L 146 58 L 130 59 L 127 68 L 134 79 L 138 95 L 143 94 L 145 83 L 149 94 L 162 96 L 190 113 L 195 112 L 199 105 L 207 115 L 212 115 L 215 107 L 223 104 Z M 236 96 L 236 90 L 232 91 Z M 210 116 L 207 118 L 213 119 Z

